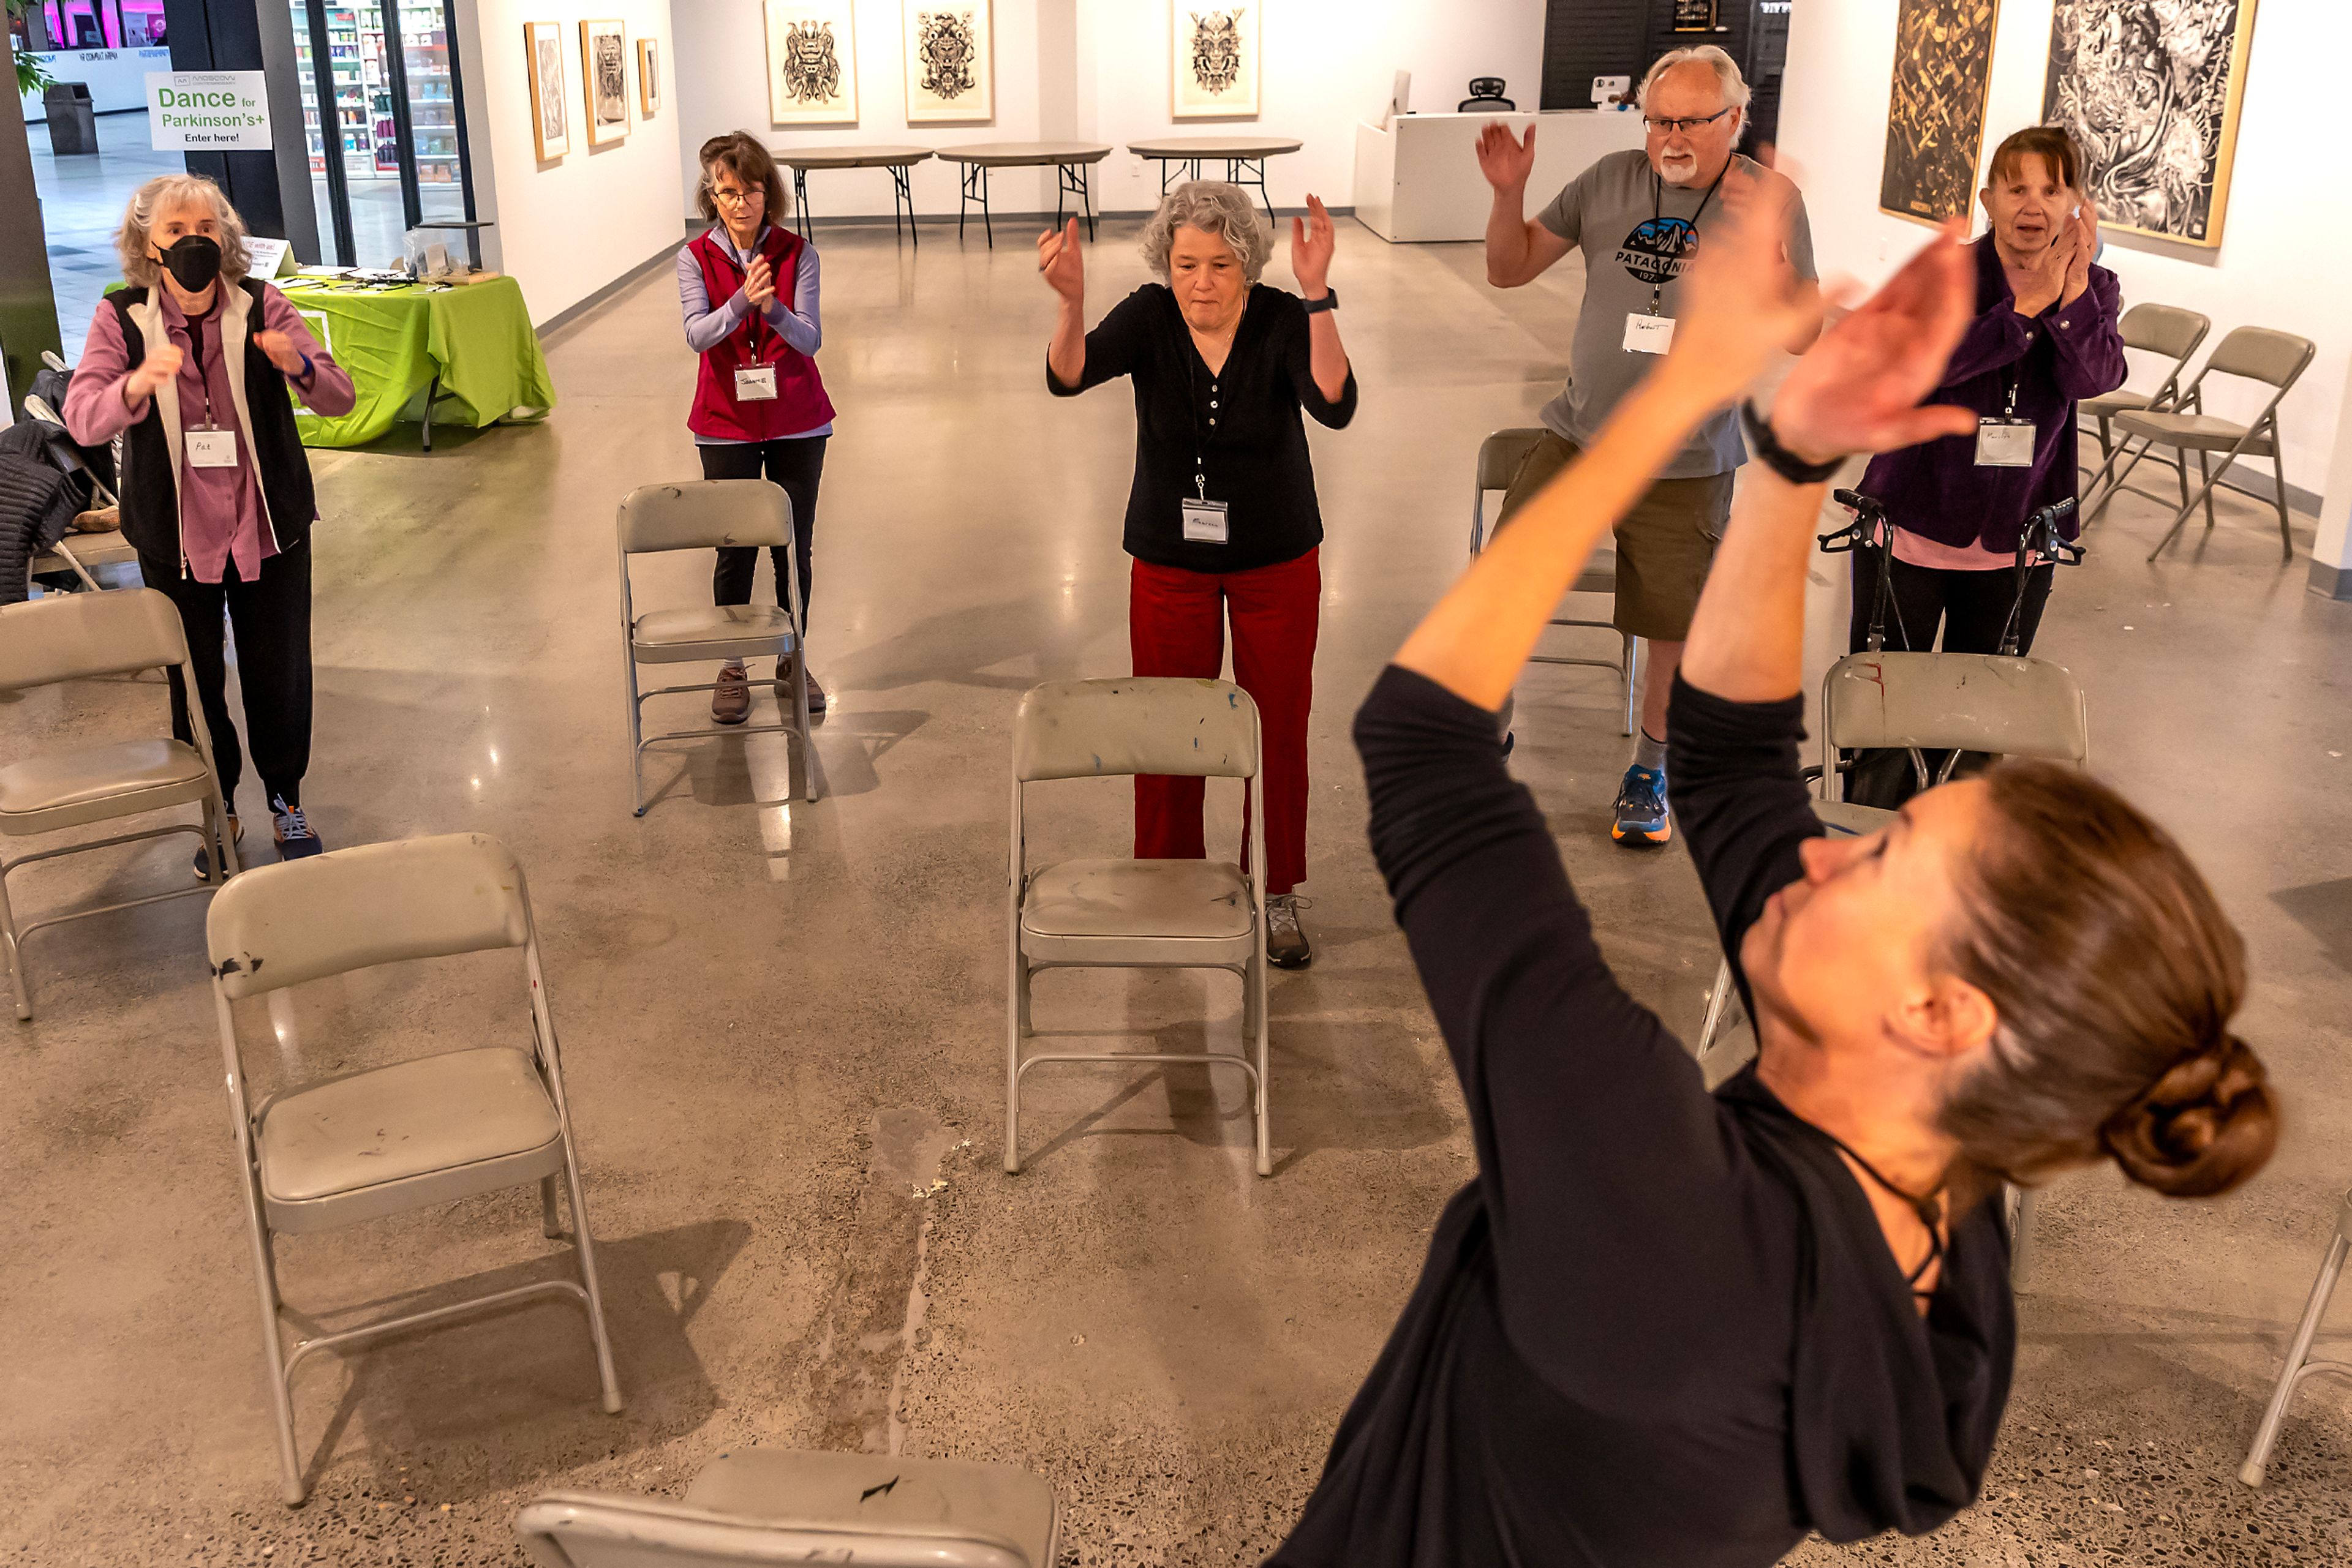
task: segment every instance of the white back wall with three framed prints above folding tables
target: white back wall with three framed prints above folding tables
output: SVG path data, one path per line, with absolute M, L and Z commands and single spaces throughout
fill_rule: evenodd
M 760 0 L 670 0 L 677 28 L 680 179 L 694 200 L 694 153 L 706 136 L 748 129 L 771 148 L 974 141 L 1098 141 L 1096 205 L 1148 209 L 1155 165 L 1127 153 L 1145 136 L 1265 134 L 1305 146 L 1268 165 L 1282 207 L 1305 193 L 1352 207 L 1355 122 L 1378 118 L 1397 71 L 1414 73 L 1414 108 L 1451 110 L 1470 78 L 1501 75 L 1522 108 L 1541 99 L 1543 0 L 1268 0 L 1261 35 L 1261 113 L 1254 120 L 1174 120 L 1171 5 L 1181 0 L 995 0 L 995 122 L 906 122 L 901 0 L 856 0 L 858 125 L 776 127 L 767 118 L 767 42 Z M 1204 174 L 1218 174 L 1209 165 Z M 915 207 L 955 214 L 953 165 L 915 167 Z M 1054 174 L 993 176 L 997 212 L 1049 212 Z M 887 216 L 880 169 L 816 172 L 818 216 Z

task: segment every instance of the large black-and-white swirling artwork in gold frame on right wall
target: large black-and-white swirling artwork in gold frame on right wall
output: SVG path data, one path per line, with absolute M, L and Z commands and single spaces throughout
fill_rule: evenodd
M 2042 122 L 2084 155 L 2098 221 L 2220 244 L 2256 0 L 2058 0 Z

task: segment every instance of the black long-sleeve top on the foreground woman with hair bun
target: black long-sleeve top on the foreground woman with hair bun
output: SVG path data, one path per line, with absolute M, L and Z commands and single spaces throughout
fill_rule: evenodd
M 1670 715 L 1738 964 L 1820 832 L 1804 705 L 1677 682 Z M 1708 1095 L 1618 987 L 1494 715 L 1392 668 L 1355 738 L 1479 1173 L 1270 1563 L 1759 1568 L 1966 1507 L 2016 1349 L 1999 1206 L 1952 1225 L 1922 1319 L 1830 1140 L 1752 1070 Z

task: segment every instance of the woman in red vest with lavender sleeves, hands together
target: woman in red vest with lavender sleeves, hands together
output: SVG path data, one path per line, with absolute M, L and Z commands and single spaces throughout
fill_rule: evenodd
M 687 348 L 703 357 L 687 428 L 706 480 L 757 480 L 762 473 L 793 498 L 793 555 L 800 567 L 800 635 L 809 635 L 809 538 L 816 534 L 816 482 L 826 473 L 833 402 L 816 374 L 823 329 L 816 317 L 816 247 L 771 228 L 783 207 L 783 179 L 750 132 L 703 143 L 696 202 L 710 230 L 677 252 L 677 301 Z M 776 602 L 783 604 L 783 550 Z M 710 574 L 713 604 L 750 604 L 760 564 L 753 545 L 720 550 Z M 776 670 L 783 691 L 786 668 Z M 809 710 L 826 710 L 826 689 L 809 675 Z M 750 672 L 741 661 L 720 670 L 710 717 L 741 724 L 750 715 Z

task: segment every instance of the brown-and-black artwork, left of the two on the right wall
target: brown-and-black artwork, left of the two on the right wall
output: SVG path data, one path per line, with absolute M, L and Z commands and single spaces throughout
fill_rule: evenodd
M 1900 0 L 1879 212 L 1943 223 L 1976 205 L 1997 14 L 1999 0 Z

